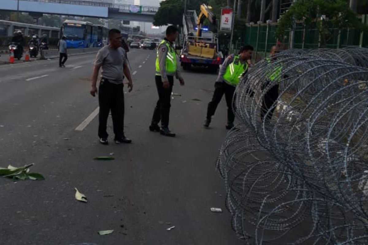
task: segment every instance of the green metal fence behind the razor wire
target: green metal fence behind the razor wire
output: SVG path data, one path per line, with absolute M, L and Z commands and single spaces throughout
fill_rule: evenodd
M 362 22 L 368 25 L 368 15 L 360 16 Z M 258 61 L 268 55 L 270 47 L 276 45 L 277 23 L 252 24 L 245 26 L 241 35 L 234 39 L 233 52 L 236 53 L 245 44 L 254 47 L 254 60 Z M 368 47 L 368 33 L 362 33 L 355 29 L 331 29 L 332 35 L 321 43 L 318 29 L 315 24 L 304 26 L 297 23 L 294 34 L 294 48 L 343 48 L 348 46 Z M 282 40 L 279 40 L 286 47 L 290 47 L 290 31 L 285 32 Z

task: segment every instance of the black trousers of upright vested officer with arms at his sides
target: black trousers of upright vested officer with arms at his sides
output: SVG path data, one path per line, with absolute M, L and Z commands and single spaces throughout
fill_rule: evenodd
M 161 76 L 155 76 L 157 92 L 159 94 L 159 100 L 156 107 L 153 110 L 152 125 L 157 125 L 161 121 L 161 127 L 169 127 L 169 116 L 171 107 L 171 92 L 173 91 L 174 77 L 167 76 L 169 80 L 170 88 L 164 89 Z

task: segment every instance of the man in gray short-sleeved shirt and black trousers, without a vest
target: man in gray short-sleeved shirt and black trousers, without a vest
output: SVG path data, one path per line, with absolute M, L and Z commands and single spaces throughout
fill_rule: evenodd
M 92 74 L 91 95 L 94 97 L 97 93 L 98 72 L 100 67 L 102 67 L 98 93 L 100 105 L 98 136 L 101 144 L 109 144 L 107 140 L 109 134 L 107 134 L 106 125 L 111 110 L 115 143 L 131 143 L 131 140 L 126 138 L 124 134 L 124 75 L 129 81 L 129 92 L 133 89 L 133 83 L 127 65 L 127 54 L 121 48 L 120 30 L 111 29 L 109 31 L 109 40 L 110 44 L 98 51 Z

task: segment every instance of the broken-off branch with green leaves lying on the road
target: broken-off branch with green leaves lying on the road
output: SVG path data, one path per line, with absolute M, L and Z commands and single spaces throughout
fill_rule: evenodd
M 13 167 L 11 165 L 8 168 L 0 167 L 0 176 L 12 178 L 14 181 L 26 179 L 45 180 L 42 174 L 29 173 L 29 167 L 31 166 L 33 166 L 33 163 L 23 167 Z

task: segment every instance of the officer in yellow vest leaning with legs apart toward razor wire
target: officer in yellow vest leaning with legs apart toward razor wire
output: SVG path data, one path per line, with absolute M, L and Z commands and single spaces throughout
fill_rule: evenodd
M 215 92 L 213 93 L 212 101 L 208 103 L 205 127 L 208 127 L 211 123 L 211 117 L 215 115 L 217 105 L 224 94 L 227 104 L 226 129 L 231 129 L 234 126 L 235 116 L 231 103 L 235 87 L 238 85 L 241 77 L 248 71 L 247 60 L 252 58 L 252 53 L 253 47 L 246 45 L 240 50 L 238 55 L 230 55 L 224 60 L 215 82 Z

